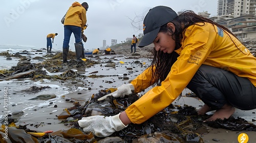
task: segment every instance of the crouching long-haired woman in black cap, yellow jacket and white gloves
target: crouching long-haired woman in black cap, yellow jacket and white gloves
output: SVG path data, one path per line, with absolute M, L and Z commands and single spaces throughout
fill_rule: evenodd
M 185 87 L 204 102 L 199 115 L 216 110 L 206 121 L 228 118 L 234 107 L 256 108 L 256 58 L 228 29 L 193 11 L 178 16 L 165 6 L 146 14 L 143 29 L 139 47 L 155 45 L 151 66 L 106 96 L 124 97 L 131 90 L 138 93 L 155 86 L 117 115 L 83 117 L 78 123 L 84 131 L 108 136 L 130 123 L 141 124 L 177 99 Z

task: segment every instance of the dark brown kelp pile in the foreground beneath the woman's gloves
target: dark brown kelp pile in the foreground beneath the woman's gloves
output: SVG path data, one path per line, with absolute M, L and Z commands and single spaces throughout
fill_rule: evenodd
M 113 116 L 124 111 L 139 98 L 137 94 L 133 93 L 131 96 L 125 96 L 124 98 L 109 96 L 104 101 L 97 101 L 97 99 L 115 90 L 117 88 L 100 90 L 93 94 L 91 99 L 83 105 L 75 102 L 73 107 L 64 109 L 58 115 L 58 119 L 65 118 L 66 120 L 60 123 L 69 125 L 70 129 L 47 133 L 31 131 L 27 129 L 27 125 L 14 127 L 14 123 L 10 123 L 8 130 L 11 130 L 11 132 L 8 132 L 8 137 L 12 142 L 204 142 L 201 135 L 209 132 L 207 127 L 204 126 L 206 124 L 210 127 L 233 131 L 256 131 L 255 125 L 239 117 L 235 119 L 231 116 L 226 120 L 203 123 L 209 116 L 197 115 L 195 107 L 170 104 L 146 122 L 140 125 L 130 124 L 106 138 L 99 138 L 91 132 L 84 132 L 77 123 L 82 117 L 92 115 Z M 0 132 L 0 135 L 4 137 L 4 127 L 0 131 L 3 132 Z M 4 140 L 2 142 L 8 141 Z

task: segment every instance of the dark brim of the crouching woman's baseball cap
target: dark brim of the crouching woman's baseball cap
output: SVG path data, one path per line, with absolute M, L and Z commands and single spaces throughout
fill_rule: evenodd
M 143 46 L 146 46 L 146 45 L 149 45 L 149 44 L 153 43 L 153 41 L 157 37 L 157 34 L 158 34 L 159 30 L 160 30 L 160 27 L 151 31 L 151 32 L 146 33 L 143 36 L 142 40 L 140 41 L 140 44 L 139 44 L 138 47 L 143 47 Z

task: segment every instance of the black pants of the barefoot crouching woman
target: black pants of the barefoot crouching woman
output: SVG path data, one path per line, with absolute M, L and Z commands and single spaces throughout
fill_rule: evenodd
M 256 87 L 250 80 L 221 68 L 201 65 L 187 88 L 212 109 L 226 103 L 241 110 L 256 108 Z

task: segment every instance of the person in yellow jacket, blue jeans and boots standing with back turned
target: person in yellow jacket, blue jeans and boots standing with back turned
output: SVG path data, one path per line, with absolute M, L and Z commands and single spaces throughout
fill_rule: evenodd
M 81 41 L 81 31 L 86 25 L 87 18 L 86 12 L 88 11 L 89 5 L 84 2 L 79 4 L 74 2 L 66 13 L 64 20 L 64 40 L 63 40 L 63 63 L 68 62 L 67 57 L 69 53 L 69 42 L 71 34 L 75 36 L 75 50 L 76 50 L 76 61 L 83 62 L 82 55 L 83 46 Z

